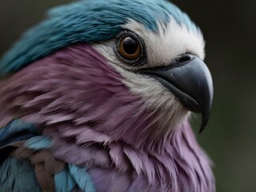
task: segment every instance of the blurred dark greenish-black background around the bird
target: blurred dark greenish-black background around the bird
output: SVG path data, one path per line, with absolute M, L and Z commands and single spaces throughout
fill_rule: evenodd
M 45 11 L 70 0 L 0 2 L 0 54 Z M 256 1 L 173 0 L 200 26 L 214 78 L 214 106 L 198 140 L 215 163 L 218 192 L 256 191 Z M 200 117 L 194 121 L 198 133 Z

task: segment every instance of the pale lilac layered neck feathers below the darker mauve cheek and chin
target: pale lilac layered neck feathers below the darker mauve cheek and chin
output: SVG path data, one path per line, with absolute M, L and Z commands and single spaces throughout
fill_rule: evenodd
M 94 130 L 81 128 L 60 133 L 47 134 L 54 139 L 55 157 L 63 161 L 88 169 L 102 167 L 138 175 L 162 191 L 214 191 L 210 160 L 198 146 L 188 122 L 162 138 L 166 142 L 159 142 L 157 148 L 150 150 L 122 140 L 110 141 Z

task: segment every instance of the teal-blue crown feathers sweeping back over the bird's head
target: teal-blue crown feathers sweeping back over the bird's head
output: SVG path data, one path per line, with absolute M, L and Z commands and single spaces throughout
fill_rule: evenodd
M 114 38 L 128 19 L 157 32 L 158 22 L 167 23 L 171 16 L 188 30 L 198 30 L 177 6 L 164 0 L 82 0 L 58 6 L 4 55 L 0 61 L 0 77 L 72 43 Z

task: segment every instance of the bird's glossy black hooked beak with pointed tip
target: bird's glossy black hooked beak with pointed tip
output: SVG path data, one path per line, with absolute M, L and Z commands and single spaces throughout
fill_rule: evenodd
M 210 118 L 214 86 L 210 70 L 194 55 L 183 54 L 171 66 L 144 70 L 170 90 L 188 110 L 202 114 L 199 133 Z

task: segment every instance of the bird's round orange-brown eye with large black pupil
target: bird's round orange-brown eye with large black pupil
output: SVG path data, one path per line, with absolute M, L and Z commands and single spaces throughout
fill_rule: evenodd
M 141 43 L 138 42 L 138 39 L 131 37 L 130 35 L 125 35 L 120 38 L 118 52 L 123 58 L 128 60 L 137 59 L 142 52 Z

